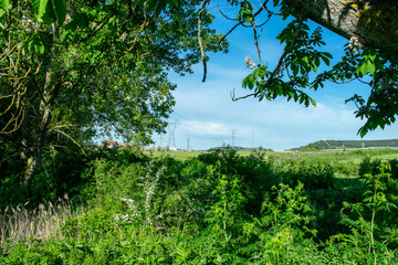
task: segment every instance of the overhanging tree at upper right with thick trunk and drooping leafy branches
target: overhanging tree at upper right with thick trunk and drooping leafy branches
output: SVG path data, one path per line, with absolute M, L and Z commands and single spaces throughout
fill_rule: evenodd
M 233 95 L 232 99 L 253 96 L 259 100 L 271 100 L 283 96 L 308 106 L 316 102 L 305 93 L 305 88 L 316 91 L 325 82 L 359 81 L 369 85 L 370 96 L 364 99 L 355 94 L 346 100 L 354 102 L 356 117 L 366 120 L 358 134 L 363 137 L 369 130 L 395 123 L 398 114 L 396 1 L 265 0 L 256 10 L 254 1 L 230 2 L 238 8 L 233 29 L 238 25 L 252 29 L 258 47 L 258 63 L 248 59 L 248 67 L 253 72 L 242 82 L 242 86 L 253 93 L 241 97 Z M 290 22 L 277 35 L 284 51 L 276 66 L 270 70 L 261 60 L 258 32 L 272 17 L 282 17 Z M 325 45 L 322 28 L 312 31 L 308 20 L 349 41 L 341 62 L 323 73 L 317 73 L 317 70 L 322 64 L 329 66 L 332 54 L 322 52 Z

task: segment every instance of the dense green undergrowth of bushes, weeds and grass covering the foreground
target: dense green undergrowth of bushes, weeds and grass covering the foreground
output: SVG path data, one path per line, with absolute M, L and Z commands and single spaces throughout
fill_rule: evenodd
M 25 205 L 12 198 L 11 177 L 2 181 L 0 263 L 398 263 L 398 160 L 367 156 L 396 153 L 352 153 L 358 163 L 341 155 L 71 156 L 56 176 L 35 176 L 36 189 L 56 184 Z

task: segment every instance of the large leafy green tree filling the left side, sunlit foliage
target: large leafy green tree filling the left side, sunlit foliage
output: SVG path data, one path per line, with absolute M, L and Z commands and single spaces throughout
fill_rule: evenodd
M 25 165 L 29 190 L 43 150 L 118 134 L 136 144 L 164 130 L 175 102 L 168 71 L 201 52 L 191 1 L 0 1 L 1 163 Z M 203 51 L 226 42 L 202 14 Z

